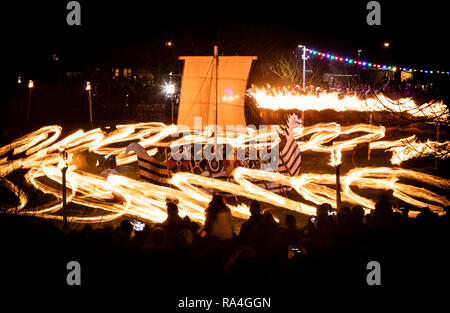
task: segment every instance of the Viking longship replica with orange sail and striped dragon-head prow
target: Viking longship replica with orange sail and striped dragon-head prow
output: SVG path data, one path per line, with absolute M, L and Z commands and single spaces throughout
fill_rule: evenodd
M 256 58 L 219 56 L 217 46 L 214 56 L 180 57 L 184 61 L 184 71 L 177 127 L 185 131 L 189 139 L 159 149 L 152 156 L 140 144 L 129 144 L 126 154 L 136 153 L 141 180 L 168 185 L 173 174 L 191 172 L 234 182 L 232 172 L 237 167 L 288 176 L 299 174 L 302 156 L 293 130 L 302 122 L 296 114 L 289 116 L 285 127 L 280 127 L 278 142 L 271 144 L 267 138 L 259 137 L 247 142 L 245 147 L 228 143 L 230 138 L 248 132 L 244 101 L 250 67 Z M 205 136 L 205 132 L 210 136 Z M 273 181 L 252 180 L 252 183 L 272 192 L 286 192 L 286 188 Z M 215 193 L 213 188 L 203 189 Z

